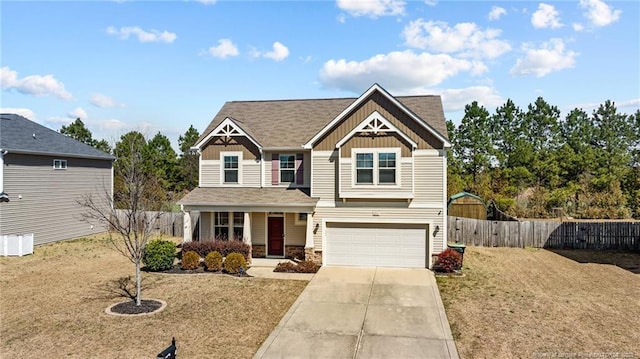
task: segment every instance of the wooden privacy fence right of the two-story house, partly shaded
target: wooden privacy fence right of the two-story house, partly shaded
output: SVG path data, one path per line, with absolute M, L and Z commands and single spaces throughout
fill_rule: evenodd
M 468 246 L 640 251 L 640 222 L 506 222 L 449 217 L 448 238 Z

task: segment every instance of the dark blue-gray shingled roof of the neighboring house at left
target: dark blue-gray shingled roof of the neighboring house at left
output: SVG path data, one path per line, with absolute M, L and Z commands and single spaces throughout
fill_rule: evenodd
M 0 149 L 8 153 L 114 159 L 108 153 L 16 114 L 0 114 Z

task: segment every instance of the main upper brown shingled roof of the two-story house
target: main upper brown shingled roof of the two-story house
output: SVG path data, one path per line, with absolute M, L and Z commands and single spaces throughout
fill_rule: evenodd
M 357 99 L 227 102 L 196 142 L 226 118 L 231 118 L 265 148 L 300 147 Z M 440 96 L 398 96 L 395 99 L 447 138 Z

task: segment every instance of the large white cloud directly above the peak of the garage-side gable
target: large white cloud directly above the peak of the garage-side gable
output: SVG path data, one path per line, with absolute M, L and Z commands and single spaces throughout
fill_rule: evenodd
M 378 82 L 394 92 L 434 86 L 460 72 L 479 72 L 472 61 L 446 54 L 416 54 L 411 50 L 379 54 L 364 61 L 329 60 L 320 70 L 327 88 L 361 93 Z

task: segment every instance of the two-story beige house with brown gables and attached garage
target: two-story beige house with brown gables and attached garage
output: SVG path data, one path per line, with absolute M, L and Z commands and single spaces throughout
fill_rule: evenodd
M 203 132 L 184 241 L 242 238 L 253 257 L 430 268 L 446 248 L 438 96 L 227 102 Z

